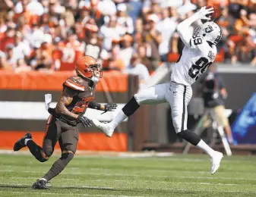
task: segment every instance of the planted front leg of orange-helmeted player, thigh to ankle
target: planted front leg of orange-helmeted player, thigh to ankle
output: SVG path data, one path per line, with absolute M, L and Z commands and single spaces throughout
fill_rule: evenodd
M 74 153 L 77 150 L 78 130 L 77 127 L 72 127 L 62 123 L 62 134 L 58 139 L 58 143 L 62 149 L 62 157 L 58 158 L 51 169 L 43 176 L 46 181 L 52 180 L 65 169 L 69 161 L 74 158 Z

